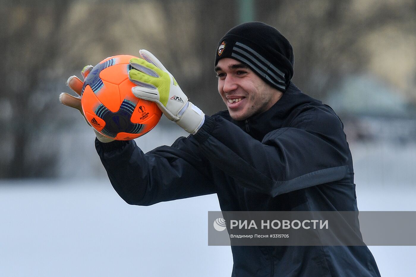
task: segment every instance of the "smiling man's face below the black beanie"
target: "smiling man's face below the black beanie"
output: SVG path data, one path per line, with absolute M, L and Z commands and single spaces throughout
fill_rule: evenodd
M 234 120 L 244 120 L 267 111 L 282 96 L 282 92 L 235 59 L 220 59 L 215 72 L 218 75 L 218 92 Z

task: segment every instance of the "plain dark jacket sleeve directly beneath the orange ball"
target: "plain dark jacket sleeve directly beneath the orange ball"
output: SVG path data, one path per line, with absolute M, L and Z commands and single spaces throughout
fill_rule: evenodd
M 135 141 L 101 143 L 96 139 L 95 146 L 114 190 L 131 205 L 215 193 L 195 139 L 178 138 L 172 146 L 148 153 Z

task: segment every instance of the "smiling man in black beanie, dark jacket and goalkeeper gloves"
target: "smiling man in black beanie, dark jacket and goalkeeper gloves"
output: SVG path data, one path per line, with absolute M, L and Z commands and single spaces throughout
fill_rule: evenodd
M 228 211 L 357 210 L 342 123 L 290 81 L 292 46 L 275 28 L 244 23 L 220 40 L 215 72 L 227 110 L 213 116 L 188 101 L 156 57 L 140 53 L 142 59 L 130 61 L 138 85 L 133 93 L 156 102 L 191 135 L 146 154 L 134 141 L 97 135 L 111 184 L 127 203 L 217 193 L 221 210 Z M 75 77 L 68 83 L 76 92 L 82 86 Z M 80 107 L 68 94 L 60 99 Z M 233 276 L 380 276 L 365 246 L 232 246 L 232 252 Z

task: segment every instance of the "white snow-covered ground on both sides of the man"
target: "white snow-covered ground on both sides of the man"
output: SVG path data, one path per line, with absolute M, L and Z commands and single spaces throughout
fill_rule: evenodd
M 352 146 L 360 210 L 416 210 L 416 147 Z M 374 146 L 375 147 L 375 146 Z M 226 276 L 208 246 L 216 195 L 131 206 L 108 180 L 0 181 L 1 276 Z M 369 247 L 383 277 L 415 276 L 416 247 Z

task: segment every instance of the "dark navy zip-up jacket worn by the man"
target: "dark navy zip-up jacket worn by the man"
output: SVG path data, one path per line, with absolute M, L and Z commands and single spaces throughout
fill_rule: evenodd
M 245 121 L 206 116 L 196 135 L 143 153 L 134 141 L 96 148 L 127 203 L 217 193 L 221 210 L 357 210 L 352 157 L 327 105 L 290 84 Z M 232 246 L 233 276 L 380 276 L 366 246 Z

